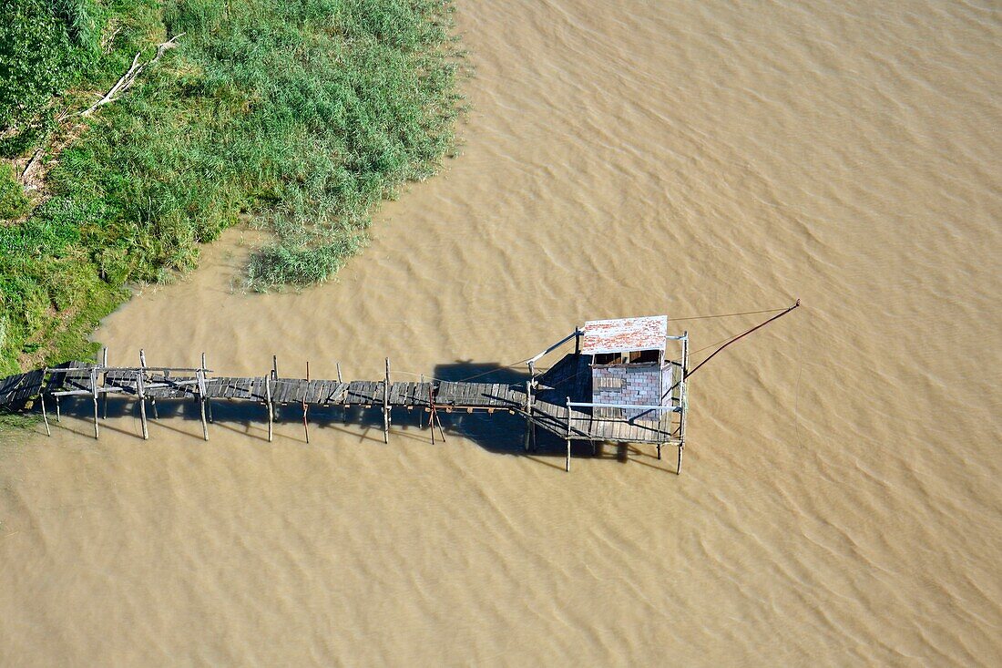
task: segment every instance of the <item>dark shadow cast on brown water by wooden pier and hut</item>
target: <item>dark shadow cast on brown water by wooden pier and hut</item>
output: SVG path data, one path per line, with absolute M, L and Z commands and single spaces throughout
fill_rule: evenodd
M 495 362 L 456 361 L 449 364 L 439 364 L 435 367 L 433 376 L 437 380 L 451 382 L 470 381 L 479 383 L 504 383 L 524 386 L 529 379 L 526 371 L 505 367 Z M 54 417 L 52 399 L 47 400 L 49 418 Z M 69 415 L 83 420 L 93 419 L 93 403 L 89 398 L 64 397 L 61 403 L 63 415 Z M 98 404 L 101 415 L 111 417 L 132 417 L 138 422 L 138 402 L 133 398 L 110 396 L 107 406 L 101 399 Z M 283 439 L 293 438 L 306 443 L 304 431 L 290 433 L 289 425 L 303 425 L 303 408 L 301 404 L 276 404 L 276 425 L 282 427 Z M 171 421 L 200 421 L 198 402 L 193 399 L 171 399 L 156 402 L 146 402 L 146 414 L 150 424 L 150 438 L 155 438 L 156 430 L 166 430 L 178 436 L 201 441 L 200 428 L 179 428 L 171 426 Z M 245 434 L 260 441 L 268 442 L 268 409 L 263 403 L 250 401 L 227 401 L 216 399 L 211 401 L 212 421 L 208 425 L 209 439 L 212 432 L 225 429 L 234 433 Z M 497 409 L 493 413 L 486 411 L 467 412 L 465 409 L 455 409 L 452 412 L 440 409 L 438 415 L 446 437 L 461 436 L 473 441 L 489 452 L 522 456 L 546 466 L 563 470 L 563 460 L 566 453 L 566 443 L 541 428 L 536 429 L 534 446 L 526 449 L 529 444 L 529 433 L 525 420 L 518 414 Z M 158 416 L 155 419 L 154 416 Z M 428 429 L 429 413 L 420 408 L 407 410 L 397 407 L 392 411 L 392 426 L 390 443 L 399 438 L 412 439 L 431 444 L 431 433 Z M 372 408 L 344 408 L 341 406 L 311 405 L 308 411 L 310 426 L 310 441 L 312 444 L 330 442 L 325 435 L 336 432 L 339 439 L 357 438 L 359 442 L 383 443 L 383 413 L 379 405 Z M 128 433 L 127 430 L 115 428 L 103 420 L 102 430 Z M 55 423 L 52 425 L 55 427 Z M 87 429 L 72 428 L 74 432 L 89 434 Z M 136 426 L 138 434 L 138 425 Z M 436 432 L 436 441 L 439 434 Z M 653 451 L 632 444 L 624 443 L 591 443 L 574 441 L 571 445 L 572 455 L 579 457 L 594 457 L 609 461 L 637 461 L 659 470 L 669 471 L 667 461 L 657 462 Z M 649 463 L 648 463 L 649 462 Z

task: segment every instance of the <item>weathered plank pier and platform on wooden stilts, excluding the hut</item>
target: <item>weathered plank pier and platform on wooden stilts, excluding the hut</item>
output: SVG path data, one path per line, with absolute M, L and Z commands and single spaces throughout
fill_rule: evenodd
M 527 360 L 528 380 L 514 384 L 439 379 L 395 381 L 391 378 L 389 359 L 381 380 L 342 380 L 340 364 L 338 379 L 309 378 L 309 364 L 307 377 L 284 377 L 278 372 L 275 358 L 272 369 L 264 375 L 222 376 L 214 375 L 206 367 L 204 353 L 201 363 L 194 367 L 148 366 L 143 351 L 139 353 L 137 366 L 112 366 L 107 364 L 105 349 L 98 362 L 68 362 L 0 380 L 0 406 L 24 409 L 37 399 L 45 428 L 49 430 L 49 413 L 54 409 L 55 418 L 59 419 L 61 400 L 89 398 L 93 405 L 94 436 L 98 437 L 101 403 L 106 415 L 108 396 L 124 397 L 136 402 L 142 436 L 148 438 L 147 403 L 155 419 L 157 402 L 192 400 L 199 405 L 202 434 L 208 440 L 213 402 L 254 402 L 267 407 L 269 440 L 272 440 L 276 406 L 297 404 L 303 407 L 303 426 L 308 442 L 307 413 L 311 407 L 379 409 L 383 412 L 387 441 L 393 409 L 421 410 L 430 414 L 428 424 L 432 428 L 433 442 L 436 426 L 445 438 L 442 411 L 508 411 L 526 420 L 526 448 L 535 447 L 537 428 L 564 440 L 567 470 L 570 470 L 570 445 L 575 440 L 593 444 L 599 441 L 650 443 L 656 446 L 658 458 L 663 445 L 673 444 L 678 447 L 680 469 L 686 412 L 687 335 L 667 337 L 681 342 L 682 350 L 678 360 L 665 363 L 664 368 L 668 373 L 674 372 L 676 379 L 668 383 L 670 388 L 656 405 L 594 402 L 591 357 L 581 352 L 583 335 L 583 330 L 575 329 L 557 344 Z M 536 371 L 536 364 L 544 356 L 571 339 L 575 342 L 573 353 L 564 355 L 546 371 Z

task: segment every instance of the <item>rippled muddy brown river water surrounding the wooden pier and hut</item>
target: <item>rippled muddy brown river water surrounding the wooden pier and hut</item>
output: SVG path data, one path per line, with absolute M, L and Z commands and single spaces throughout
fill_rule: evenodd
M 613 6 L 615 5 L 615 6 Z M 515 418 L 190 406 L 0 449 L 4 665 L 999 665 L 1000 53 L 975 2 L 460 2 L 463 154 L 302 294 L 247 245 L 112 362 L 378 378 L 585 319 L 805 307 L 693 377 L 685 470 Z M 694 347 L 755 316 L 687 320 Z M 703 353 L 705 354 L 705 353 Z M 696 356 L 698 358 L 698 356 Z M 454 365 L 451 366 L 450 365 Z

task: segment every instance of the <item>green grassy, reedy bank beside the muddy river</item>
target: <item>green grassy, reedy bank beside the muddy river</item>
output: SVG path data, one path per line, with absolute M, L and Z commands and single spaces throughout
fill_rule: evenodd
M 0 146 L 18 170 L 45 147 L 30 202 L 10 188 L 17 172 L 0 183 L 0 216 L 13 219 L 0 223 L 0 374 L 88 354 L 125 286 L 193 268 L 198 245 L 242 215 L 276 240 L 254 255 L 248 287 L 329 278 L 365 245 L 372 208 L 434 174 L 454 145 L 449 2 L 86 7 L 90 42 L 53 15 L 68 74 L 33 115 L 8 119 Z M 137 51 L 150 62 L 177 35 L 131 89 L 74 115 Z

